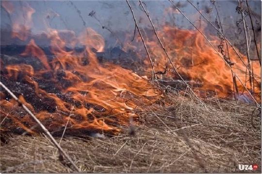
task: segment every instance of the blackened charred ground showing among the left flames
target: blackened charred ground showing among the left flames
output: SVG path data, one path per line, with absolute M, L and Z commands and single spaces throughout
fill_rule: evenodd
M 12 47 L 13 46 L 13 47 Z M 72 110 L 72 107 L 75 108 L 86 108 L 90 109 L 91 107 L 98 113 L 97 118 L 99 117 L 108 117 L 110 116 L 113 118 L 113 116 L 108 115 L 108 112 L 105 113 L 105 108 L 103 108 L 100 105 L 94 104 L 94 103 L 86 103 L 82 102 L 79 100 L 76 100 L 72 98 L 71 96 L 74 95 L 72 92 L 66 92 L 62 93 L 62 91 L 71 85 L 73 85 L 73 81 L 69 81 L 65 79 L 66 73 L 63 70 L 58 70 L 56 73 L 54 72 L 46 72 L 46 73 L 38 73 L 40 70 L 44 70 L 44 65 L 42 62 L 33 56 L 19 56 L 20 53 L 23 52 L 23 49 L 25 46 L 21 45 L 12 45 L 12 46 L 1 46 L 1 52 L 5 53 L 6 55 L 1 54 L 0 55 L 0 61 L 1 61 L 1 69 L 0 69 L 0 80 L 1 82 L 8 87 L 16 96 L 23 96 L 25 101 L 33 106 L 34 112 L 39 113 L 41 111 L 47 111 L 48 113 L 52 114 L 57 111 L 57 106 L 54 105 L 55 100 L 53 98 L 46 97 L 45 94 L 42 94 L 41 92 L 36 94 L 36 89 L 41 89 L 46 91 L 47 93 L 52 93 L 55 94 L 58 99 L 61 101 L 65 102 L 65 108 L 67 110 L 63 110 L 63 115 L 66 114 L 66 116 L 70 115 L 70 112 Z M 47 55 L 48 61 L 51 62 L 54 58 L 54 56 L 49 52 L 49 47 L 42 47 L 42 50 L 44 50 L 45 54 Z M 67 47 L 68 50 L 72 49 L 70 47 Z M 82 52 L 84 50 L 83 47 L 79 46 L 77 48 L 74 48 L 75 50 Z M 16 52 L 16 53 L 14 53 Z M 94 50 L 96 52 L 96 50 Z M 122 67 L 128 67 L 130 66 L 131 59 L 136 59 L 136 57 L 131 54 L 131 53 L 126 53 L 122 51 L 121 49 L 115 47 L 113 49 L 108 49 L 107 52 L 104 53 L 97 53 L 97 57 L 99 62 L 101 63 L 101 66 L 103 62 L 112 62 L 115 64 L 121 64 Z M 118 59 L 114 59 L 117 57 Z M 133 60 L 133 62 L 136 62 Z M 87 64 L 88 59 L 83 58 L 82 59 L 82 64 Z M 8 73 L 8 65 L 21 65 L 19 67 L 19 70 L 14 71 L 12 70 L 12 75 L 9 76 Z M 31 77 L 31 75 L 28 74 L 28 70 L 25 70 L 23 65 L 30 65 L 33 67 L 34 70 L 34 75 Z M 133 66 L 135 67 L 135 66 Z M 17 73 L 16 73 L 17 72 Z M 79 78 L 82 79 L 82 81 L 87 82 L 88 77 L 81 75 L 77 71 L 72 71 L 75 75 L 77 75 Z M 30 76 L 34 82 L 37 83 L 37 87 L 33 83 L 29 83 L 28 76 Z M 2 88 L 0 87 L 1 91 L 1 100 L 7 100 L 10 101 L 12 97 Z M 80 91 L 81 92 L 81 91 Z M 82 95 L 85 95 L 82 93 Z M 14 112 L 16 109 L 13 108 L 9 112 Z M 18 109 L 19 112 L 15 113 L 15 119 L 21 120 L 21 122 L 26 125 L 27 127 L 32 127 L 33 124 L 36 124 L 33 119 L 30 118 L 30 120 L 23 121 L 27 118 L 23 118 L 27 116 L 27 113 L 23 111 L 23 109 Z M 4 113 L 6 113 L 4 111 Z M 3 114 L 1 110 L 1 114 Z M 3 116 L 4 117 L 4 116 Z M 60 121 L 63 121 L 64 117 L 60 119 Z M 88 115 L 89 121 L 94 120 L 93 116 Z M 61 135 L 63 132 L 63 128 L 61 127 L 61 123 L 59 124 L 60 121 L 53 120 L 52 118 L 45 119 L 42 123 L 46 126 L 49 127 L 49 131 L 53 135 Z M 80 115 L 75 115 L 75 121 L 78 123 L 82 122 L 82 116 Z M 30 122 L 30 124 L 28 123 Z M 58 125 L 55 125 L 57 122 Z M 107 121 L 105 122 L 108 125 L 115 126 L 117 119 L 114 118 L 113 121 Z M 53 125 L 52 128 L 50 128 L 50 124 Z M 33 131 L 42 131 L 39 126 L 33 126 L 34 129 Z M 1 122 L 1 129 L 4 131 L 12 131 L 16 133 L 23 133 L 24 130 L 21 129 L 20 126 L 17 126 L 15 123 L 14 119 L 4 119 Z M 77 132 L 76 132 L 77 131 Z M 79 132 L 81 131 L 81 132 Z M 73 132 L 73 133 L 72 133 Z M 66 135 L 68 134 L 90 134 L 92 133 L 93 130 L 73 130 L 73 129 L 67 129 L 66 130 Z

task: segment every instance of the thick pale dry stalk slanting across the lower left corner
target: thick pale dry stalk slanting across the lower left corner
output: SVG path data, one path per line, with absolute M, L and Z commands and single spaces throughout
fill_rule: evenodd
M 66 157 L 66 159 L 74 166 L 75 170 L 77 172 L 81 172 L 80 169 L 76 166 L 76 164 L 73 162 L 73 160 L 71 160 L 71 158 L 66 154 L 66 152 L 64 151 L 64 149 L 55 141 L 55 139 L 53 138 L 53 136 L 51 135 L 51 133 L 46 129 L 46 127 L 39 121 L 39 119 L 36 118 L 36 116 L 33 115 L 33 113 L 28 109 L 28 107 L 26 107 L 26 105 L 24 105 L 16 96 L 13 92 L 11 92 L 4 84 L 2 84 L 2 82 L 0 82 L 0 86 L 2 86 L 9 95 L 11 95 L 16 102 L 18 103 L 19 106 L 21 106 L 30 116 L 33 117 L 33 119 L 37 122 L 37 124 L 39 124 L 39 126 L 43 129 L 43 131 L 49 136 L 49 138 L 51 139 L 52 143 L 60 150 L 60 152 Z

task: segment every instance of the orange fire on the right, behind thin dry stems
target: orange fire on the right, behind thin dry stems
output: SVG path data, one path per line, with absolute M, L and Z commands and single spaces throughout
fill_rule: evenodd
M 234 49 L 230 47 L 229 43 L 229 51 L 227 51 L 224 41 L 224 55 L 230 58 L 230 62 L 232 63 L 231 69 L 235 76 L 238 77 L 236 78 L 237 87 L 234 87 L 231 69 L 223 60 L 223 55 L 218 49 L 218 45 L 221 43 L 218 37 L 209 35 L 211 44 L 217 48 L 217 51 L 215 51 L 197 30 L 165 26 L 163 30 L 158 31 L 158 35 L 178 73 L 180 73 L 185 81 L 198 84 L 194 88 L 194 91 L 200 97 L 215 96 L 219 98 L 231 98 L 234 95 L 238 95 L 240 100 L 246 98 L 247 102 L 252 102 L 252 97 L 246 91 L 247 88 L 258 102 L 261 101 L 261 66 L 258 60 L 251 61 L 250 70 L 255 80 L 252 80 L 252 84 L 250 85 L 247 57 L 242 55 L 237 48 L 234 48 L 240 55 L 239 57 Z M 135 44 L 138 47 L 143 46 L 140 38 L 137 38 Z M 164 72 L 164 68 L 167 66 L 167 74 L 162 77 L 160 76 L 160 78 L 165 78 L 169 82 L 180 80 L 180 77 L 174 71 L 163 48 L 157 42 L 157 38 L 154 35 L 148 37 L 147 45 L 150 48 L 149 52 L 153 58 L 155 71 Z M 146 53 L 140 55 L 142 55 L 140 58 L 143 59 L 146 65 L 146 71 L 150 71 L 150 62 L 148 59 L 145 59 Z

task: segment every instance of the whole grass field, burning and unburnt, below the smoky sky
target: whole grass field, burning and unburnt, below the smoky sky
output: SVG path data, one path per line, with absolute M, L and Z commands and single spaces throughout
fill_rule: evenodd
M 20 10 L 1 3 L 12 21 L 10 39 L 26 44 L 22 51 L 6 50 L 13 56 L 0 55 L 2 173 L 235 172 L 238 164 L 261 164 L 259 54 L 250 61 L 227 40 L 217 18 L 214 36 L 173 2 L 196 30 L 166 23 L 156 32 L 147 14 L 149 32 L 139 28 L 127 3 L 139 35 L 125 33 L 124 46 L 109 52 L 84 21 L 76 34 L 51 28 L 47 14 L 46 31 L 34 36 L 37 11 L 27 2 Z M 19 24 L 22 16 L 26 23 Z M 94 11 L 89 16 L 98 20 Z M 49 132 L 64 150 L 52 145 Z

